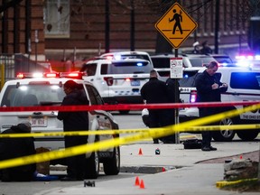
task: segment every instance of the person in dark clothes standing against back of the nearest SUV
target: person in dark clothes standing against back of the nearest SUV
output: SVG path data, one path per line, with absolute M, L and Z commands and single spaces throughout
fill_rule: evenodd
M 63 98 L 61 106 L 88 105 L 88 98 L 84 95 L 79 85 L 68 80 L 63 86 L 66 97 Z M 88 112 L 59 112 L 58 119 L 63 121 L 64 132 L 68 131 L 88 131 Z M 88 136 L 65 136 L 65 148 L 80 144 L 87 144 Z M 71 156 L 67 160 L 68 176 L 61 178 L 61 181 L 82 181 L 85 174 L 85 154 Z

